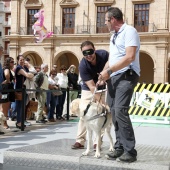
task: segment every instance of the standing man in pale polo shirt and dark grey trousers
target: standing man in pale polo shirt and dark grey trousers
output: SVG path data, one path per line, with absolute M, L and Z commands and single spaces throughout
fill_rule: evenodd
M 107 81 L 107 104 L 110 107 L 115 127 L 116 143 L 108 159 L 122 162 L 137 160 L 135 135 L 128 109 L 140 75 L 140 39 L 136 29 L 123 21 L 122 11 L 111 7 L 106 11 L 105 24 L 115 31 L 110 39 L 110 55 L 105 69 L 100 72 L 101 80 Z

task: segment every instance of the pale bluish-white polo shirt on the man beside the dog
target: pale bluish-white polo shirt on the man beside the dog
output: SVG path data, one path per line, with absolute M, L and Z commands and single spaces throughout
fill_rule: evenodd
M 115 33 L 116 34 L 116 33 Z M 131 68 L 140 75 L 140 64 L 139 64 L 139 49 L 140 49 L 140 38 L 136 29 L 130 25 L 124 23 L 120 30 L 117 32 L 117 36 L 113 34 L 110 38 L 110 56 L 109 66 L 116 64 L 120 59 L 126 55 L 126 47 L 136 46 L 136 57 L 135 60 L 130 64 Z M 115 44 L 113 43 L 113 39 Z M 130 66 L 124 67 L 121 70 L 113 72 L 111 77 L 119 73 L 125 72 Z

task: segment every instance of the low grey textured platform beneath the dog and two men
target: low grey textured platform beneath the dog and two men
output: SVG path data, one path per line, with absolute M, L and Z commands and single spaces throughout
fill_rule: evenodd
M 103 142 L 101 158 L 82 156 L 85 149 L 73 150 L 73 139 L 10 149 L 4 152 L 3 170 L 169 170 L 170 147 L 137 145 L 137 161 L 122 163 L 107 160 L 109 143 Z

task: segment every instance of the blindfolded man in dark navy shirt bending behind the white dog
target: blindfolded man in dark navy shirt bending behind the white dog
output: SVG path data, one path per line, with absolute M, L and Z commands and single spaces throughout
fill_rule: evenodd
M 79 65 L 80 76 L 82 79 L 81 99 L 91 100 L 96 89 L 99 73 L 105 67 L 106 62 L 108 61 L 109 53 L 106 50 L 95 50 L 94 44 L 91 41 L 84 41 L 80 48 L 84 56 Z M 103 90 L 105 87 L 101 86 L 98 90 L 100 88 Z M 101 96 L 102 99 L 100 100 Z M 101 103 L 105 102 L 105 95 L 103 93 L 96 93 L 94 97 L 95 100 Z M 72 145 L 71 148 L 83 149 L 85 141 L 86 126 L 83 118 L 80 118 L 76 143 Z M 94 141 L 94 149 L 95 147 L 96 142 Z

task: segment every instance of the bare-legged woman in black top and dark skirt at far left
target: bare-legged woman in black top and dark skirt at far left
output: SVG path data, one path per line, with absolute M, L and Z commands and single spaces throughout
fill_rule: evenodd
M 11 72 L 11 70 L 14 67 L 14 59 L 12 57 L 8 57 L 5 59 L 4 62 L 4 67 L 3 67 L 3 78 L 4 78 L 4 82 L 2 84 L 4 84 L 6 87 L 8 87 L 8 89 L 14 89 L 14 76 Z M 4 99 L 5 102 L 0 104 L 0 110 L 4 113 L 4 115 L 7 117 L 8 116 L 8 110 L 10 108 L 10 102 L 14 102 L 15 101 L 15 95 L 14 92 L 9 92 L 9 93 L 2 93 L 4 95 Z M 6 95 L 6 97 L 5 97 Z M 9 126 L 7 124 L 7 121 L 4 122 L 4 128 L 8 129 Z

